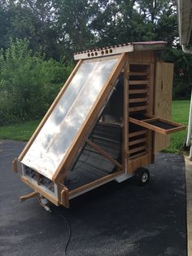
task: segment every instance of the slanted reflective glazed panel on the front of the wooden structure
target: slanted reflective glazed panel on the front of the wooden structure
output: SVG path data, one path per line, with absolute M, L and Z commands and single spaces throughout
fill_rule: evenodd
M 21 161 L 24 165 L 52 179 L 117 60 L 82 62 Z

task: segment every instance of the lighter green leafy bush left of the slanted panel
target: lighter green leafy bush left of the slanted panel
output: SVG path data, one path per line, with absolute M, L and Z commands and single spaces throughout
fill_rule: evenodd
M 0 125 L 42 117 L 72 66 L 33 55 L 27 40 L 11 41 L 0 53 Z

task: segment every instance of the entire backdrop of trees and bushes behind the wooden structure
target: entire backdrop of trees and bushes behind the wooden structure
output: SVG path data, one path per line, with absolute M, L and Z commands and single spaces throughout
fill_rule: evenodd
M 167 41 L 173 96 L 190 97 L 192 61 L 178 46 L 174 0 L 0 0 L 0 34 L 1 123 L 41 117 L 74 52 L 122 42 Z

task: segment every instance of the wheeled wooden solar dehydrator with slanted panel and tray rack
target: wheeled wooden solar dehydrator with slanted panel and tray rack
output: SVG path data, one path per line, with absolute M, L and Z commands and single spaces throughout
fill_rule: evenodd
M 14 170 L 55 205 L 113 179 L 137 174 L 168 135 L 185 126 L 171 117 L 173 65 L 158 61 L 166 42 L 134 42 L 76 53 L 78 60 Z M 18 165 L 20 163 L 20 168 Z

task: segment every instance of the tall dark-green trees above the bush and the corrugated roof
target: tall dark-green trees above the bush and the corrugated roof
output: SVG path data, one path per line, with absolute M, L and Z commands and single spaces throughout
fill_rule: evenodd
M 173 0 L 1 2 L 0 46 L 6 46 L 10 37 L 28 38 L 34 52 L 41 46 L 48 58 L 56 60 L 60 55 L 69 58 L 75 51 L 120 42 L 164 39 L 172 46 L 178 36 Z

